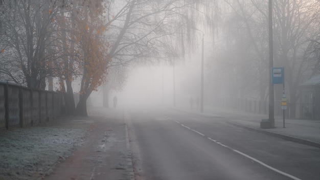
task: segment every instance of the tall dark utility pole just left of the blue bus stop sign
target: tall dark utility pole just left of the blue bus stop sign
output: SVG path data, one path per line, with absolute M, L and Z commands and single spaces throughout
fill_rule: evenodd
M 269 0 L 269 121 L 275 127 L 275 90 L 271 79 L 273 68 L 272 0 Z

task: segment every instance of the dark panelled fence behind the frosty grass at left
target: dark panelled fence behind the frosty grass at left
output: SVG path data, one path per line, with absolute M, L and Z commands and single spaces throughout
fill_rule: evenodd
M 0 129 L 32 126 L 61 114 L 62 93 L 0 81 Z

